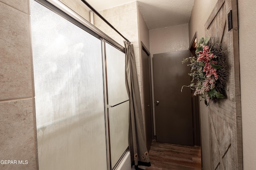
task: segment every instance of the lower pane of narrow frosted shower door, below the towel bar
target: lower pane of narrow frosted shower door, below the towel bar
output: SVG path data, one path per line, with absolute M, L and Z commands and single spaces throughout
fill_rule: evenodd
M 111 165 L 113 168 L 128 148 L 129 102 L 127 101 L 115 107 L 110 107 L 108 112 Z

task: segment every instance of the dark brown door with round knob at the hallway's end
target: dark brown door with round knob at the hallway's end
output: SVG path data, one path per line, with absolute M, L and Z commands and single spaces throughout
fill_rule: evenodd
M 182 64 L 189 51 L 154 54 L 154 96 L 156 140 L 180 145 L 193 145 L 190 67 Z

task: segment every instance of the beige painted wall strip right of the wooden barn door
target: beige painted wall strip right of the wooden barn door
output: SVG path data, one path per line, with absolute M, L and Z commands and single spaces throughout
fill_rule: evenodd
M 256 1 L 238 0 L 240 87 L 244 170 L 256 167 Z

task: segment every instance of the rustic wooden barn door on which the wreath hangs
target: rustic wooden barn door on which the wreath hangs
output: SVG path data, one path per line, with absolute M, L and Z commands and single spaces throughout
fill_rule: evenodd
M 211 166 L 213 170 L 241 170 L 242 121 L 236 0 L 218 0 L 205 24 L 205 34 L 222 43 L 230 72 L 226 98 L 209 105 Z

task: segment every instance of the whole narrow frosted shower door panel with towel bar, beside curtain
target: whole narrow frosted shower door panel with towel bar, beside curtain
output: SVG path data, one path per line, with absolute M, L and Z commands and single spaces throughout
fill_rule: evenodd
M 125 54 L 106 43 L 111 165 L 128 148 L 129 98 L 125 85 Z

